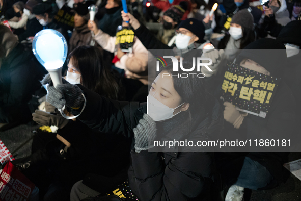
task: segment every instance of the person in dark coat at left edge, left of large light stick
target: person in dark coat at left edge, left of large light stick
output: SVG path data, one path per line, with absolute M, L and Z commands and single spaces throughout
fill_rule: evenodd
M 20 44 L 10 29 L 0 25 L 0 124 L 29 122 L 28 102 L 41 85 L 45 68 Z

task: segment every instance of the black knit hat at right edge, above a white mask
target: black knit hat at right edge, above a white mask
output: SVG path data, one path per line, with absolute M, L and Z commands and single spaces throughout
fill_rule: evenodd
M 278 39 L 283 43 L 290 43 L 301 46 L 301 21 L 294 20 L 286 24 L 278 35 Z

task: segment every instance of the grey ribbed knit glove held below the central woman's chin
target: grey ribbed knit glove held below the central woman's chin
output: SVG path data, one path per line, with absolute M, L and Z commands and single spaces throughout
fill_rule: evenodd
M 148 150 L 154 147 L 154 139 L 156 137 L 156 122 L 148 115 L 144 114 L 143 119 L 139 120 L 139 124 L 133 129 L 135 137 L 135 152 Z

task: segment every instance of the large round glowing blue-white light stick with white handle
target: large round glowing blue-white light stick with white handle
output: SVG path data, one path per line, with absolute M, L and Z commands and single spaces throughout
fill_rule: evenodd
M 33 40 L 33 53 L 49 72 L 53 86 L 62 84 L 62 67 L 67 57 L 67 41 L 53 29 L 38 32 Z

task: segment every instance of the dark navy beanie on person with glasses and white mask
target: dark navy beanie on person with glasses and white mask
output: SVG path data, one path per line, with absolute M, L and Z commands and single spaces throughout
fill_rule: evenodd
M 189 30 L 190 32 L 198 36 L 201 42 L 205 42 L 205 26 L 202 21 L 197 20 L 195 18 L 185 19 L 184 21 L 181 21 L 181 23 L 178 26 L 178 29 L 179 28 L 185 28 Z

